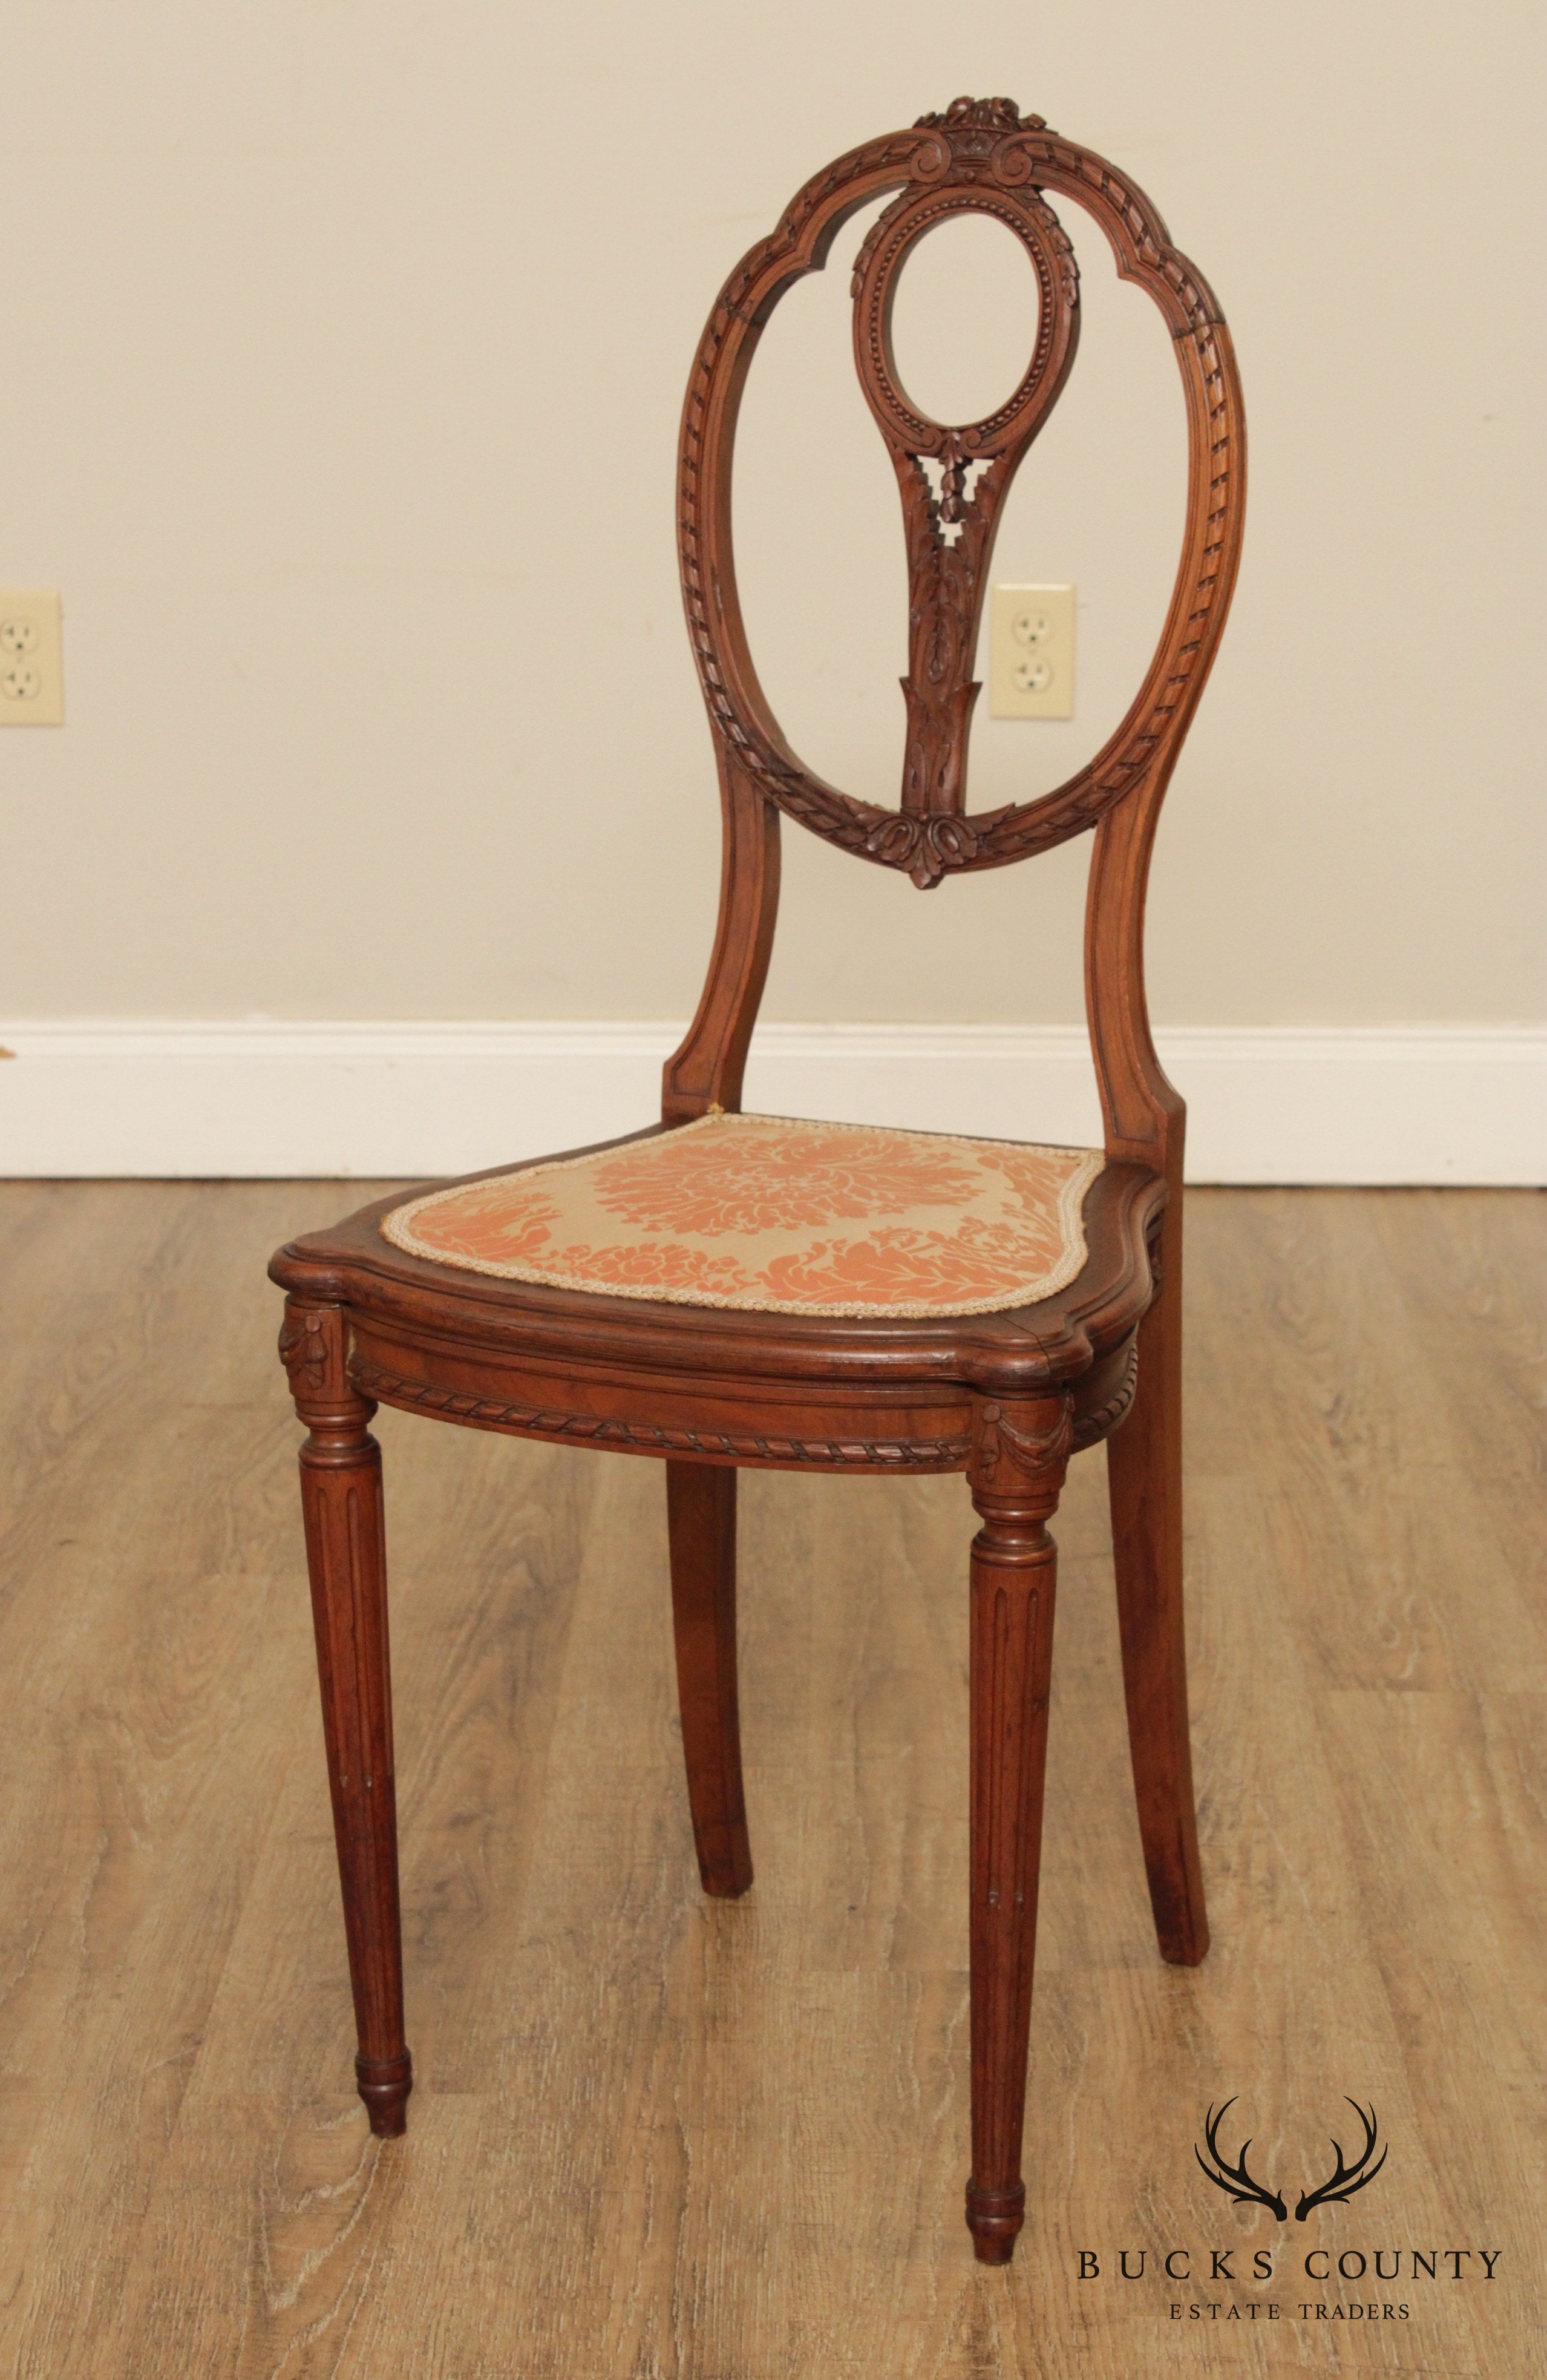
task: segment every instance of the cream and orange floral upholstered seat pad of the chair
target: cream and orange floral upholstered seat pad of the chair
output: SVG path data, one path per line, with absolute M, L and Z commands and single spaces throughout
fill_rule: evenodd
M 393 1247 L 500 1280 L 752 1314 L 997 1314 L 1085 1266 L 1100 1150 L 702 1116 L 433 1190 Z

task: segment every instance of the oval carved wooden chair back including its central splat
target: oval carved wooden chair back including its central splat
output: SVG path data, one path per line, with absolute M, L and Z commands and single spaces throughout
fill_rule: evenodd
M 914 635 L 904 681 L 902 809 L 857 802 L 790 750 L 747 652 L 731 552 L 735 414 L 762 328 L 785 288 L 826 262 L 840 224 L 885 190 L 902 190 L 902 198 L 866 240 L 854 286 L 859 371 L 897 462 L 909 531 Z M 1054 793 L 969 816 L 962 809 L 964 747 L 976 688 L 966 669 L 992 514 L 1061 388 L 1078 321 L 1073 257 L 1045 190 L 1073 198 L 1095 217 L 1119 274 L 1150 290 L 1173 333 L 1190 433 L 1188 536 L 1161 643 L 1116 733 Z M 904 402 L 885 352 L 890 276 L 940 212 L 1004 219 L 1023 238 L 1042 288 L 1038 355 L 1021 388 L 997 414 L 962 431 L 931 424 Z M 1054 347 L 1066 333 L 1061 359 L 1042 355 L 1050 328 Z M 923 483 L 926 455 L 950 474 L 940 497 Z M 962 469 L 985 457 L 988 469 L 969 497 Z M 945 114 L 921 117 L 912 131 L 852 150 L 814 176 L 778 228 L 735 267 L 688 381 L 678 559 L 700 683 L 728 764 L 802 826 L 862 859 L 902 869 L 921 888 L 950 871 L 1009 866 L 1085 833 L 1176 754 L 1223 626 L 1242 495 L 1245 426 L 1223 314 L 1202 274 L 1171 245 L 1157 209 L 1116 167 L 1061 140 L 1040 117 L 1021 117 L 1014 100 L 957 100 Z M 954 545 L 942 538 L 947 526 L 959 526 Z M 942 555 L 959 559 L 947 564 Z

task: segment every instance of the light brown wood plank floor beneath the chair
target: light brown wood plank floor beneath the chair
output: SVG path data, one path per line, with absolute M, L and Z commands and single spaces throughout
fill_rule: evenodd
M 1547 2368 L 1547 1202 L 1195 1195 L 1214 1952 L 1154 1954 L 1083 1457 L 1028 2225 L 990 2273 L 962 2225 L 959 1480 L 743 1480 L 757 1885 L 712 1904 L 659 1468 L 381 1416 L 419 2085 L 407 2140 L 369 2140 L 264 1283 L 364 1195 L 0 1190 L 0 2373 Z M 1283 2225 L 1197 2171 L 1230 2094 Z M 1295 2223 L 1345 2094 L 1388 2166 Z M 1359 2278 L 1376 2249 L 1399 2280 Z

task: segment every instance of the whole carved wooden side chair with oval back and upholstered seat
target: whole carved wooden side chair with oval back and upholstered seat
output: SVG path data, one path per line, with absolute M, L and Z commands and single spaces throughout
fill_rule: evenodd
M 902 807 L 826 785 L 759 688 L 731 555 L 731 450 L 752 352 L 838 226 L 890 205 L 854 267 L 854 359 L 902 490 L 909 569 Z M 995 521 L 1076 352 L 1078 276 L 1047 193 L 1095 217 L 1180 364 L 1188 526 L 1133 707 L 1057 793 L 969 814 L 971 666 Z M 988 419 L 926 419 L 890 305 L 954 214 L 1023 243 L 1035 352 Z M 1069 1457 L 1107 1440 L 1133 1783 L 1161 1956 L 1204 1956 L 1188 1747 L 1180 1521 L 1183 1102 L 1159 1069 L 1142 916 L 1161 795 L 1226 619 L 1245 431 L 1230 336 L 1150 200 L 1012 100 L 957 100 L 826 167 L 735 267 L 693 364 L 678 536 L 724 812 L 704 995 L 662 1123 L 600 1150 L 390 1197 L 295 1240 L 281 1357 L 300 1452 L 317 1661 L 371 2130 L 405 2128 L 402 1952 L 376 1404 L 666 1464 L 688 1802 L 704 1892 L 752 1883 L 735 1704 L 735 1473 L 966 1471 L 971 1547 L 971 2142 L 966 2221 L 1004 2263 L 1042 1830 L 1054 1545 Z M 931 469 L 933 466 L 933 469 Z M 1095 828 L 1085 988 L 1104 1150 L 740 1114 L 778 900 L 781 812 L 919 888 Z M 1119 1428 L 1121 1423 L 1121 1428 Z

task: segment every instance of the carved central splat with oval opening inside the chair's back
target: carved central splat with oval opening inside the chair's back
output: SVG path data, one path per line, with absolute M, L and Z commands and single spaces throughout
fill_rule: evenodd
M 1009 102 L 985 102 L 988 109 Z M 1004 126 L 976 129 L 976 143 Z M 1019 129 L 1019 121 L 1016 121 Z M 988 155 L 992 152 L 992 138 Z M 1035 190 L 983 188 L 964 155 L 947 188 L 909 188 L 873 226 L 854 262 L 854 362 L 888 443 L 907 538 L 909 638 L 902 812 L 957 819 L 966 797 L 966 738 L 978 685 L 983 590 L 1009 483 L 1069 378 L 1078 345 L 1078 274 L 1052 207 Z M 1016 233 L 1038 276 L 1038 338 L 1004 405 L 983 421 L 931 421 L 907 397 L 892 357 L 892 298 L 912 248 L 952 214 L 988 214 Z M 940 881 L 921 845 L 914 883 Z

